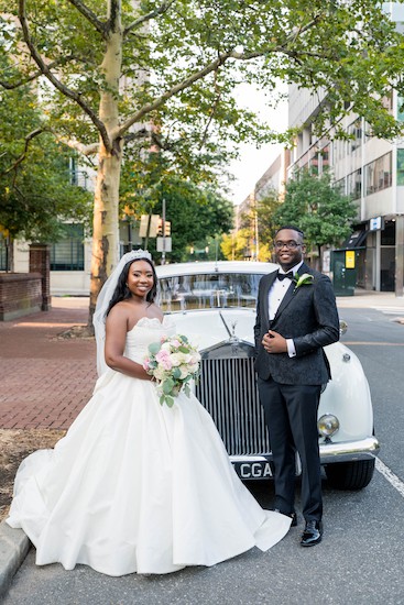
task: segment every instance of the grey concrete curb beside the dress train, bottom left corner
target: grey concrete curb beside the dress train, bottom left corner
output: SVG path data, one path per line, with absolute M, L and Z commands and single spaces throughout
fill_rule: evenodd
M 12 579 L 24 561 L 31 542 L 22 529 L 0 522 L 0 597 L 8 592 Z

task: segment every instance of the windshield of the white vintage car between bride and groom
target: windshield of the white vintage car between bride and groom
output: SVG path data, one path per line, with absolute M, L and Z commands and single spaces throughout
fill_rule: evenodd
M 262 276 L 258 273 L 209 273 L 161 277 L 159 302 L 164 311 L 254 308 Z

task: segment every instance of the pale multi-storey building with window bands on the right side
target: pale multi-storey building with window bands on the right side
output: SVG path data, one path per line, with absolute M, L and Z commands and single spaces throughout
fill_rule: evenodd
M 385 10 L 404 30 L 404 6 L 385 3 Z M 290 178 L 296 169 L 309 168 L 315 174 L 330 170 L 336 186 L 357 202 L 354 230 L 342 249 L 357 252 L 357 285 L 365 289 L 395 292 L 403 296 L 404 277 L 404 139 L 394 142 L 370 136 L 363 119 L 351 114 L 343 127 L 349 141 L 319 140 L 310 123 L 321 91 L 290 87 L 288 125 L 305 124 L 292 151 L 287 169 Z M 387 109 L 404 121 L 403 99 L 392 92 L 385 99 Z

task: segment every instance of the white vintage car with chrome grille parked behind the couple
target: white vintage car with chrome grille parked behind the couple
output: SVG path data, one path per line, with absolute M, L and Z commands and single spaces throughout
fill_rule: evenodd
M 166 314 L 175 314 L 177 332 L 200 350 L 195 392 L 242 480 L 272 476 L 253 369 L 253 326 L 259 282 L 276 268 L 272 263 L 226 261 L 156 267 L 159 302 Z M 321 394 L 318 410 L 321 464 L 332 486 L 361 490 L 373 476 L 379 452 L 368 381 L 356 354 L 341 342 L 325 351 L 332 381 Z

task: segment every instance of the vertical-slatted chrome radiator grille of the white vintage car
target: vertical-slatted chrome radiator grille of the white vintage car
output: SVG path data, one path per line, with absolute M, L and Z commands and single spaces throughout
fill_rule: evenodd
M 230 455 L 269 453 L 252 358 L 201 361 L 196 396 L 219 430 Z

